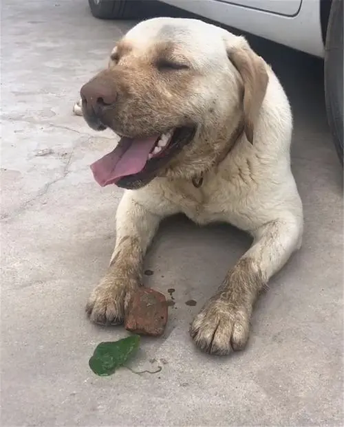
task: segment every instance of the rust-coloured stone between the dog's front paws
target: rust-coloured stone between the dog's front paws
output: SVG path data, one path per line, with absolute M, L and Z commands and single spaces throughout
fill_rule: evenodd
M 125 329 L 141 335 L 160 336 L 168 317 L 166 298 L 149 287 L 138 289 L 126 310 Z

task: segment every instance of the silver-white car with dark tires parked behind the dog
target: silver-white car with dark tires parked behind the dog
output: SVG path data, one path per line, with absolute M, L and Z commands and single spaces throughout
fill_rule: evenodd
M 327 120 L 343 166 L 343 0 L 88 1 L 100 19 L 147 19 L 174 6 L 322 58 Z

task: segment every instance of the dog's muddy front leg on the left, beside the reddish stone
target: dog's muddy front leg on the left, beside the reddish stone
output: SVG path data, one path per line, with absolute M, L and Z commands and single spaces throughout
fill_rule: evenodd
M 169 213 L 174 212 L 160 209 L 160 215 L 155 215 L 138 204 L 131 192 L 125 192 L 116 214 L 116 245 L 110 265 L 86 305 L 93 322 L 107 325 L 124 320 L 131 294 L 142 284 L 144 254 L 160 220 Z

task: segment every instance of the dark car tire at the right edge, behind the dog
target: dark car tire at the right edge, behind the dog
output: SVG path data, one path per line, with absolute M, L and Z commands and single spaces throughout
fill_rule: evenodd
M 324 74 L 327 120 L 343 165 L 343 0 L 332 0 L 325 42 Z

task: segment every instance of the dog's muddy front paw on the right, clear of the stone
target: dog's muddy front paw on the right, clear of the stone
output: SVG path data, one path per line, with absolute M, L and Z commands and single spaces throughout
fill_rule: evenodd
M 200 349 L 224 355 L 245 347 L 250 330 L 250 314 L 246 307 L 228 304 L 215 298 L 197 314 L 190 335 Z

